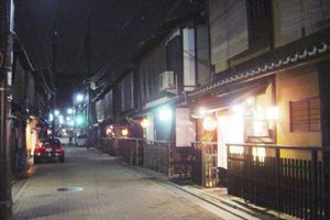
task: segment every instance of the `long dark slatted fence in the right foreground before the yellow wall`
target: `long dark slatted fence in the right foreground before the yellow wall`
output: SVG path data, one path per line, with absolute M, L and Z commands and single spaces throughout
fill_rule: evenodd
M 231 147 L 243 147 L 231 153 Z M 330 219 L 329 173 L 320 147 L 266 145 L 255 156 L 253 144 L 228 144 L 228 193 L 249 202 L 301 219 Z M 253 153 L 254 151 L 254 153 Z M 284 158 L 285 151 L 309 158 Z

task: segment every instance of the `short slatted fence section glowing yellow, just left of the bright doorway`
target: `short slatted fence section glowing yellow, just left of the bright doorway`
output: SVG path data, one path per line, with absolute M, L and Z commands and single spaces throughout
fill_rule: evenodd
M 193 182 L 204 187 L 218 185 L 217 142 L 193 142 Z

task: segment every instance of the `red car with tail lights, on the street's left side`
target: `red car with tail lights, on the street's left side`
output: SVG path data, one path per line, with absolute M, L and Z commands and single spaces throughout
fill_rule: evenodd
M 45 139 L 41 140 L 34 148 L 34 164 L 40 163 L 42 160 L 54 160 L 58 158 L 59 162 L 64 163 L 65 153 L 64 146 L 58 139 Z

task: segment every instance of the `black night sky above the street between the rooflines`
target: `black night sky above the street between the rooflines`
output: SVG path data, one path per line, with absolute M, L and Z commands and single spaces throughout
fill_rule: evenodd
M 52 28 L 57 28 L 57 106 L 87 76 L 84 37 L 90 14 L 91 72 L 121 73 L 180 0 L 15 0 L 15 32 L 36 69 L 51 69 Z

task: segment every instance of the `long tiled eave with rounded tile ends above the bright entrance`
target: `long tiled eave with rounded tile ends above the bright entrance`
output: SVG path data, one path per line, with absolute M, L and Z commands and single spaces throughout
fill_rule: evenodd
M 217 74 L 219 77 L 212 82 L 188 92 L 188 99 L 204 97 L 227 85 L 253 80 L 293 66 L 326 58 L 330 54 L 329 35 L 330 29 L 323 30 L 219 73 Z

